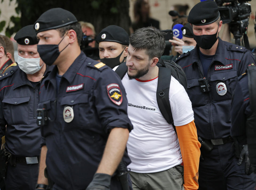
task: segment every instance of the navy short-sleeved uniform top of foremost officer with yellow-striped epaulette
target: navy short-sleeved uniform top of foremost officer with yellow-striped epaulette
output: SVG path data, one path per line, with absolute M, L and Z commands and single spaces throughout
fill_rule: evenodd
M 83 52 L 62 76 L 58 94 L 56 73 L 54 67 L 39 92 L 39 108 L 48 112 L 48 123 L 41 127 L 47 170 L 60 188 L 85 189 L 102 158 L 109 130 L 133 128 L 125 89 L 110 67 Z

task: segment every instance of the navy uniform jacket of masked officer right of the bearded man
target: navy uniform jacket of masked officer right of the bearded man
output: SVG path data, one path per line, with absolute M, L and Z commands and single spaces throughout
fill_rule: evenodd
M 205 93 L 200 90 L 198 82 L 203 76 L 198 51 L 196 46 L 194 50 L 183 53 L 176 63 L 187 75 L 187 93 L 192 102 L 198 136 L 204 139 L 224 138 L 230 135 L 230 105 L 237 76 L 255 60 L 245 47 L 219 38 L 217 51 L 205 76 L 209 80 L 210 92 Z

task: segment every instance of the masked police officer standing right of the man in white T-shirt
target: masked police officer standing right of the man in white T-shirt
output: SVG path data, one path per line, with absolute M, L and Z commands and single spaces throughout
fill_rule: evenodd
M 255 175 L 245 171 L 245 160 L 238 163 L 240 154 L 245 156 L 246 146 L 242 145 L 246 141 L 230 136 L 230 105 L 237 76 L 255 59 L 245 47 L 218 37 L 222 21 L 214 1 L 196 4 L 188 22 L 197 46 L 176 62 L 187 75 L 187 92 L 202 143 L 199 189 L 254 189 Z M 239 146 L 234 147 L 235 142 Z

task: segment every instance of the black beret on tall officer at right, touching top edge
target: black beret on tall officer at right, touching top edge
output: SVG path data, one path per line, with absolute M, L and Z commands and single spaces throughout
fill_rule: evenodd
M 209 25 L 218 20 L 219 8 L 215 1 L 197 3 L 189 12 L 187 21 L 193 25 Z

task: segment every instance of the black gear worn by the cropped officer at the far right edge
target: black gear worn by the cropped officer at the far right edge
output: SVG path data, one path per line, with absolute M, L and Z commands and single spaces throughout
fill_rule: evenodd
M 246 137 L 251 163 L 256 164 L 256 66 L 247 68 L 251 115 L 246 120 Z M 256 172 L 256 169 L 255 169 Z

